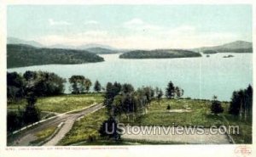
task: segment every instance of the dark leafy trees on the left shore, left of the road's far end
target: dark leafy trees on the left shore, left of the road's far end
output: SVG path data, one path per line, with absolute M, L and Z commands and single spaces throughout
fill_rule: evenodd
M 88 93 L 92 86 L 90 79 L 84 76 L 71 76 L 68 79 L 72 93 Z M 8 103 L 26 99 L 24 109 L 11 110 L 7 116 L 7 130 L 13 132 L 22 126 L 40 120 L 41 112 L 36 106 L 38 97 L 61 95 L 65 91 L 65 79 L 55 73 L 27 70 L 24 74 L 17 72 L 7 73 Z M 94 90 L 102 91 L 99 81 L 95 82 Z

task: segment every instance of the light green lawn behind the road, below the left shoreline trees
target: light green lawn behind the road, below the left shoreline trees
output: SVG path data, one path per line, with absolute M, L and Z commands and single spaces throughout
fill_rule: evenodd
M 101 103 L 102 93 L 69 94 L 55 97 L 38 98 L 37 106 L 42 111 L 64 113 L 73 109 L 83 109 L 90 104 Z M 26 99 L 8 104 L 8 109 L 23 109 L 26 106 Z

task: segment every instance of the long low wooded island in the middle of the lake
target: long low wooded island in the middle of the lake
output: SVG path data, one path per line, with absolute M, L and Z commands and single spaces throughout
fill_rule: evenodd
M 191 57 L 201 57 L 201 53 L 182 49 L 155 49 L 134 50 L 119 55 L 120 59 L 172 59 Z

